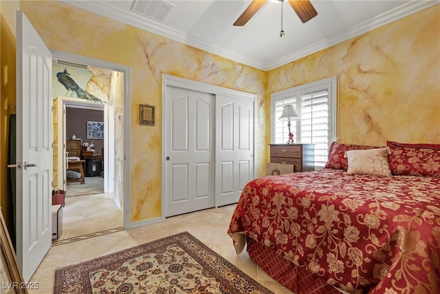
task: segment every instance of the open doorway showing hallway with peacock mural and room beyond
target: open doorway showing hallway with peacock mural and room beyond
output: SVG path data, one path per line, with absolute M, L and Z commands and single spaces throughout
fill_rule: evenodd
M 54 187 L 66 196 L 59 244 L 124 228 L 124 73 L 61 59 L 52 64 Z M 80 170 L 69 165 L 76 160 Z

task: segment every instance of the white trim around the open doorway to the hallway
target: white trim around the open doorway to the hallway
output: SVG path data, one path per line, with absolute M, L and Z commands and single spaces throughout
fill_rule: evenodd
M 59 50 L 52 50 L 52 59 L 63 59 L 72 63 L 82 63 L 96 67 L 107 68 L 124 73 L 124 229 L 131 229 L 131 67 L 109 61 L 93 59 L 91 57 L 72 54 Z M 129 184 L 129 185 L 127 185 Z

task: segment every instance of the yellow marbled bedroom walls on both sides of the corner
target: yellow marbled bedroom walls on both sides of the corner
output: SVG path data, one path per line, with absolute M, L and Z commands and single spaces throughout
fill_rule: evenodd
M 259 176 L 268 158 L 270 93 L 338 72 L 341 142 L 440 143 L 439 7 L 263 72 L 65 3 L 20 2 L 48 47 L 131 67 L 131 105 L 126 105 L 132 114 L 131 182 L 126 185 L 131 185 L 133 222 L 157 218 L 162 208 L 162 74 L 257 95 Z M 146 103 L 157 107 L 154 127 L 139 125 L 138 107 Z

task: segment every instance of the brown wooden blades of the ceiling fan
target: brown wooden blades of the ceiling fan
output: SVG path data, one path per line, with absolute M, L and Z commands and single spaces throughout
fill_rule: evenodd
M 266 3 L 267 0 L 253 0 L 252 3 L 245 9 L 238 19 L 234 22 L 234 26 L 245 25 L 251 17 L 256 14 L 257 11 Z M 313 19 L 318 15 L 310 0 L 278 0 L 280 2 L 288 1 L 290 6 L 296 12 L 298 17 L 303 23 L 306 23 L 310 19 Z

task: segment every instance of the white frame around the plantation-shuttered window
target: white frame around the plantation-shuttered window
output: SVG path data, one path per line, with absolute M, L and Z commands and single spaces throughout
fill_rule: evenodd
M 333 141 L 336 141 L 337 139 L 337 105 L 338 105 L 338 96 L 337 96 L 337 76 L 331 76 L 330 78 L 323 78 L 319 81 L 314 81 L 311 83 L 299 85 L 296 87 L 292 87 L 283 91 L 274 92 L 270 96 L 270 142 L 272 144 L 283 144 L 283 143 L 276 143 L 276 120 L 278 118 L 275 117 L 276 112 L 276 102 L 280 100 L 285 99 L 292 99 L 292 97 L 296 97 L 296 103 L 295 108 L 297 109 L 297 112 L 300 114 L 301 111 L 301 99 L 300 99 L 300 93 L 304 92 L 305 90 L 309 90 L 309 92 L 316 92 L 318 90 L 327 90 L 328 92 L 328 115 L 329 115 L 329 134 L 328 134 L 328 146 L 327 149 L 330 148 L 330 145 Z M 301 118 L 300 118 L 301 120 Z M 285 122 L 287 125 L 287 122 Z M 293 127 L 293 126 L 292 126 Z M 292 130 L 293 131 L 293 130 Z M 300 134 L 301 131 L 301 124 L 296 123 L 296 134 Z M 300 144 L 301 138 L 300 136 L 297 136 L 295 138 L 295 143 Z

